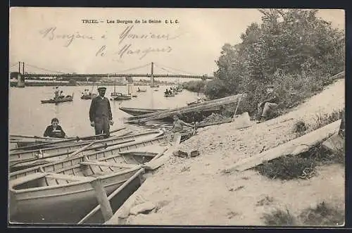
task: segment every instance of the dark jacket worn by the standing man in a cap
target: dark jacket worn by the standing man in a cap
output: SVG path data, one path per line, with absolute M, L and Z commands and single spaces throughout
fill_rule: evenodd
M 113 120 L 110 102 L 106 97 L 102 99 L 101 96 L 96 96 L 92 99 L 92 103 L 89 108 L 89 120 L 92 122 L 95 118 L 103 117 L 108 118 L 108 120 Z

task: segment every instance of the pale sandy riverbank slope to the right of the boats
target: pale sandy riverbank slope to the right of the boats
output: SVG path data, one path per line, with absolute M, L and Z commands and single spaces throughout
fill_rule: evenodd
M 254 170 L 224 173 L 237 161 L 296 137 L 297 120 L 313 124 L 317 114 L 345 106 L 345 80 L 337 80 L 286 115 L 235 130 L 234 124 L 210 126 L 180 145 L 197 149 L 196 158 L 170 158 L 137 193 L 158 206 L 149 214 L 130 215 L 131 225 L 263 225 L 263 213 L 286 208 L 299 215 L 322 201 L 344 210 L 344 167 L 325 165 L 310 180 L 270 180 Z M 115 217 L 115 216 L 114 216 Z M 107 224 L 117 224 L 112 218 Z

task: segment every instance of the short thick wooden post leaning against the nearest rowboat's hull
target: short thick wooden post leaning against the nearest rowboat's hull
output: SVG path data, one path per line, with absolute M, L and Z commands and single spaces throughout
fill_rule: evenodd
M 94 179 L 91 184 L 96 193 L 96 199 L 101 206 L 101 213 L 103 213 L 103 218 L 105 221 L 107 221 L 113 217 L 113 209 L 110 206 L 110 201 L 108 201 L 108 196 L 106 196 L 106 191 L 101 184 L 100 178 Z

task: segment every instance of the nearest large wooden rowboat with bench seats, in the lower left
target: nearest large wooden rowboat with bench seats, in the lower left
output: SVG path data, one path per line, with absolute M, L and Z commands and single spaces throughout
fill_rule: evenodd
M 150 150 L 171 145 L 165 137 L 158 137 L 12 172 L 10 220 L 76 223 L 98 205 L 92 187 L 97 177 L 110 195 L 158 154 Z M 148 146 L 149 151 L 133 152 Z

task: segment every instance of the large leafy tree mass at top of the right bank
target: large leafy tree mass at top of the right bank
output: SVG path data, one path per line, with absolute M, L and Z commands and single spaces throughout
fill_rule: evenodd
M 249 25 L 241 34 L 241 44 L 222 46 L 215 61 L 218 81 L 209 83 L 207 93 L 221 97 L 218 89 L 227 94 L 247 92 L 249 99 L 257 101 L 264 94 L 263 86 L 278 78 L 285 82 L 284 77 L 290 77 L 298 88 L 308 76 L 322 82 L 339 73 L 344 69 L 344 32 L 318 18 L 317 12 L 260 9 L 262 23 Z M 277 70 L 284 75 L 275 75 Z

